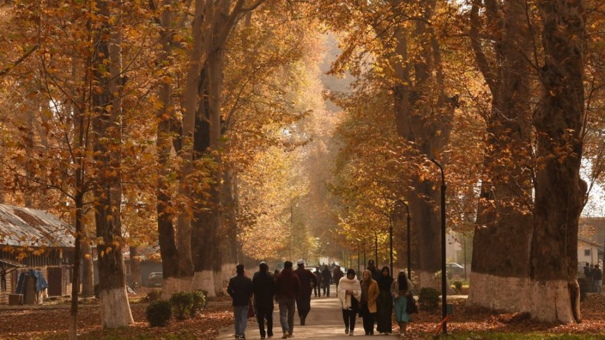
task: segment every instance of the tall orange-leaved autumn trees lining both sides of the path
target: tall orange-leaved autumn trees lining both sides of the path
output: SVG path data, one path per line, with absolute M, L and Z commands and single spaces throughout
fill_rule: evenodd
M 469 305 L 579 321 L 579 217 L 605 181 L 604 11 L 600 0 L 3 1 L 0 203 L 74 225 L 75 339 L 92 245 L 108 328 L 133 322 L 126 248 L 161 258 L 165 296 L 216 296 L 244 259 L 339 257 L 362 240 L 371 252 L 392 221 L 397 267 L 411 242 L 414 280 L 433 286 L 434 159 L 447 227 L 473 236 Z

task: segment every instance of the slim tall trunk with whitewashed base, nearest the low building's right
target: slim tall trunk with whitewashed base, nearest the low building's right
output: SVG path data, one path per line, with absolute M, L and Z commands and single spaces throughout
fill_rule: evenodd
M 133 323 L 124 280 L 122 261 L 122 223 L 120 218 L 120 145 L 122 141 L 120 35 L 119 27 L 109 24 L 111 1 L 97 1 L 99 29 L 95 32 L 95 53 L 92 60 L 92 74 L 95 90 L 92 91 L 92 106 L 95 115 L 92 129 L 95 133 L 95 167 L 98 183 L 95 188 L 95 225 L 99 252 L 99 298 L 101 301 L 101 321 L 104 328 L 127 326 Z M 105 18 L 105 19 L 102 19 Z M 118 22 L 120 17 L 118 15 Z M 109 59 L 110 74 L 103 72 Z M 104 138 L 102 138 L 104 137 Z

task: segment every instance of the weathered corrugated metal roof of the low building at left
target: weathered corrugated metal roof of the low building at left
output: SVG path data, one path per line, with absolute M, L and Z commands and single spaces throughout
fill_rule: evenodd
M 0 204 L 0 245 L 73 247 L 73 229 L 47 211 Z

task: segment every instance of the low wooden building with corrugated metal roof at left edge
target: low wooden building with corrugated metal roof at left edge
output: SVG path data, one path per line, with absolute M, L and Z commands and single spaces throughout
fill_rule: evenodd
M 15 293 L 19 274 L 42 272 L 49 296 L 70 292 L 74 259 L 73 230 L 38 209 L 0 204 L 0 303 Z

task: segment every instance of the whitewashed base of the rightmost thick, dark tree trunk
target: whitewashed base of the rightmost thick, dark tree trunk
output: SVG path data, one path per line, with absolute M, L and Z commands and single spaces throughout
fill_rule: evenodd
M 547 322 L 574 322 L 567 284 L 567 280 L 531 282 L 527 300 L 532 318 Z

